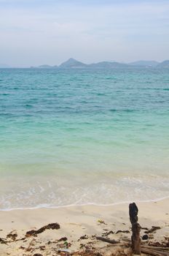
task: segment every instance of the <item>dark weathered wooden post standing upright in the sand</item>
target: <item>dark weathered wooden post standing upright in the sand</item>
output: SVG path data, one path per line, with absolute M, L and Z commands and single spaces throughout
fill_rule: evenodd
M 135 205 L 135 203 L 130 203 L 129 215 L 130 215 L 130 222 L 132 225 L 132 232 L 133 232 L 131 236 L 133 253 L 135 255 L 141 255 L 141 238 L 140 238 L 141 226 L 138 224 L 138 208 Z

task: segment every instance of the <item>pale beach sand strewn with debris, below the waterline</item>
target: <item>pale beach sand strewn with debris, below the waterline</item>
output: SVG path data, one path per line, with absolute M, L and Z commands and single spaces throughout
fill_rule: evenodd
M 141 227 L 160 229 L 148 234 L 148 242 L 169 238 L 169 198 L 139 203 L 138 222 Z M 0 255 L 130 255 L 130 249 L 118 249 L 95 236 L 122 241 L 130 238 L 128 203 L 114 206 L 69 206 L 31 210 L 0 211 Z M 58 223 L 59 229 L 47 229 L 36 236 L 25 236 L 29 230 Z M 109 233 L 109 231 L 113 231 Z M 141 237 L 146 229 L 141 229 Z M 62 238 L 62 239 L 60 239 Z M 60 240 L 60 241 L 59 241 Z M 61 252 L 65 251 L 65 252 Z M 66 251 L 68 253 L 66 253 Z

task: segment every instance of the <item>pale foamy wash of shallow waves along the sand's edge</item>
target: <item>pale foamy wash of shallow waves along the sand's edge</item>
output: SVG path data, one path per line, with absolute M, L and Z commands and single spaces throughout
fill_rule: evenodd
M 49 177 L 48 177 L 49 178 Z M 83 182 L 82 182 L 83 181 Z M 15 183 L 16 182 L 16 183 Z M 13 191 L 1 187 L 1 210 L 22 208 L 58 208 L 66 206 L 98 205 L 111 206 L 131 201 L 162 200 L 169 196 L 168 178 L 162 176 L 132 177 L 89 177 L 76 180 L 51 177 L 41 181 L 18 179 Z M 1 184 L 2 185 L 2 184 Z

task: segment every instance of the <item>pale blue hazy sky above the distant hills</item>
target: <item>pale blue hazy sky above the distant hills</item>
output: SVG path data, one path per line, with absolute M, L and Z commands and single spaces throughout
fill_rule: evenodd
M 169 59 L 168 0 L 0 0 L 0 64 Z

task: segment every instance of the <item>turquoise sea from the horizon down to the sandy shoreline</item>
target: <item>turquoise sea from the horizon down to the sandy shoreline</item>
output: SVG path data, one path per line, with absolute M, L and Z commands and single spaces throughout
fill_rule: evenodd
M 168 69 L 0 69 L 0 208 L 169 196 Z

